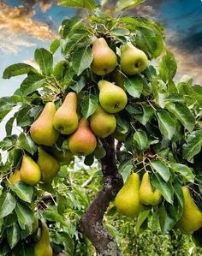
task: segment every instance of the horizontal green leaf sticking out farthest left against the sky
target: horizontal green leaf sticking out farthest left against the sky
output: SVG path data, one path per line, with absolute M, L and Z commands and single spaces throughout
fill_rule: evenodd
M 26 63 L 16 63 L 13 65 L 10 65 L 8 68 L 6 68 L 3 71 L 3 78 L 9 79 L 10 77 L 13 77 L 13 76 L 27 74 L 30 71 L 33 71 L 34 73 L 38 73 L 38 71 L 35 68 L 33 68 L 32 66 Z

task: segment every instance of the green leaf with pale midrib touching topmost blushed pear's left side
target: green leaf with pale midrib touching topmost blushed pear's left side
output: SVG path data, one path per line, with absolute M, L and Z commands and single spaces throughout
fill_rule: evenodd
M 89 46 L 80 48 L 74 53 L 72 65 L 74 71 L 79 76 L 86 68 L 89 68 L 92 63 L 92 50 Z

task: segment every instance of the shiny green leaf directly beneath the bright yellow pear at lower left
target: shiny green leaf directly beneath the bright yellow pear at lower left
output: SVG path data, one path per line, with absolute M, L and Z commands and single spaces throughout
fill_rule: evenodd
M 17 182 L 11 186 L 11 189 L 17 196 L 27 203 L 31 203 L 33 199 L 33 187 L 24 182 Z

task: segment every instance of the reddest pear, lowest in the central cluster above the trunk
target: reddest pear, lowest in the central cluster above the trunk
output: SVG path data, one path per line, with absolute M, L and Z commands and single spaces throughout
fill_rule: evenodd
M 69 150 L 74 155 L 89 155 L 97 145 L 96 136 L 92 133 L 89 122 L 82 118 L 78 129 L 69 137 Z

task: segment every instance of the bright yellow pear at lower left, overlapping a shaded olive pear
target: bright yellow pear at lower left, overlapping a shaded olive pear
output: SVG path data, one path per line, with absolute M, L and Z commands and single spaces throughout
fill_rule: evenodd
M 36 185 L 41 178 L 41 171 L 38 164 L 27 155 L 24 155 L 21 162 L 21 181 L 29 185 Z

